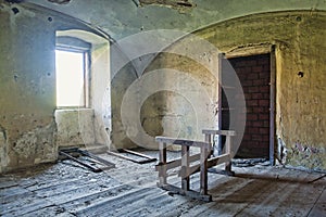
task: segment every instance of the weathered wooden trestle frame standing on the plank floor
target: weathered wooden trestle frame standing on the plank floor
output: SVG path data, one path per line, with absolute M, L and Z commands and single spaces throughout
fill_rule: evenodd
M 234 131 L 229 130 L 203 130 L 205 135 L 205 141 L 193 141 L 187 139 L 176 139 L 168 137 L 156 137 L 155 141 L 159 142 L 159 164 L 155 169 L 159 171 L 158 186 L 162 189 L 173 191 L 183 195 L 210 202 L 212 196 L 208 194 L 208 168 L 225 163 L 226 169 L 230 170 L 231 159 L 231 136 L 235 136 Z M 212 154 L 212 136 L 222 135 L 226 136 L 226 152 L 225 154 L 209 158 Z M 181 145 L 181 158 L 166 162 L 166 145 L 177 144 Z M 191 155 L 189 149 L 191 146 L 200 148 L 200 153 Z M 191 162 L 200 161 L 200 164 L 190 166 Z M 178 171 L 178 176 L 181 177 L 181 188 L 167 183 L 167 170 L 181 166 Z M 200 191 L 190 190 L 190 176 L 197 171 L 200 171 Z

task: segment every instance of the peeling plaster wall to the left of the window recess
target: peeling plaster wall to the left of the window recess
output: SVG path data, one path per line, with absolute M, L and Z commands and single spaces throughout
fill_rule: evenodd
M 0 28 L 0 173 L 7 173 L 57 159 L 55 30 L 91 29 L 3 0 Z

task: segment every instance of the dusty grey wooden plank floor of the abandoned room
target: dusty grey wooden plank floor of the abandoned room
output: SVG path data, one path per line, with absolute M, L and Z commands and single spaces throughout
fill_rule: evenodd
M 326 216 L 324 174 L 234 166 L 236 177 L 209 174 L 205 203 L 156 188 L 155 163 L 101 156 L 116 168 L 96 174 L 64 161 L 1 176 L 0 216 Z

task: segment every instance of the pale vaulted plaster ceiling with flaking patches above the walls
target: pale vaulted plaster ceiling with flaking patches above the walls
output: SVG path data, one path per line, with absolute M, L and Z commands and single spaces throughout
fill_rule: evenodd
M 326 10 L 325 0 L 25 0 L 82 20 L 118 40 L 152 29 L 191 33 L 243 15 Z

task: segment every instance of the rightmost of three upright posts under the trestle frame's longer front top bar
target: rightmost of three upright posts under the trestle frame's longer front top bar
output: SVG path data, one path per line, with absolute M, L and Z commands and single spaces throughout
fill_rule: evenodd
M 208 194 L 208 149 L 200 148 L 200 194 Z

